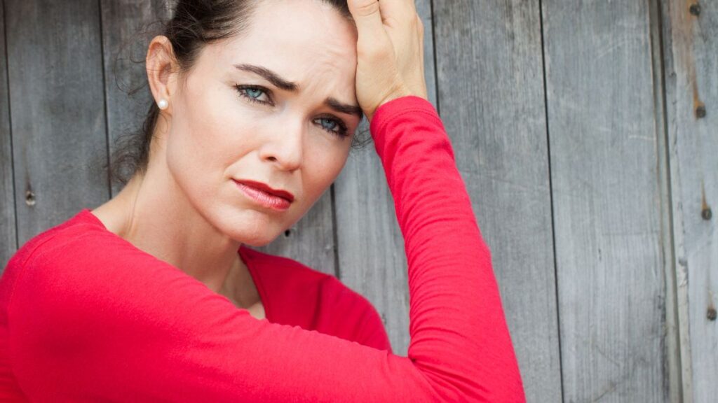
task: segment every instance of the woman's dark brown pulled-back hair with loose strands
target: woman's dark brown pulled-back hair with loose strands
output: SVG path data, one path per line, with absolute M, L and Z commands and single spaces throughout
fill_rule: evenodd
M 159 22 L 163 34 L 172 44 L 172 52 L 180 65 L 180 72 L 188 72 L 197 61 L 205 44 L 241 36 L 251 23 L 253 11 L 262 0 L 179 0 L 174 2 L 172 18 Z M 346 0 L 317 0 L 330 4 L 353 23 Z M 144 65 L 144 59 L 141 60 Z M 144 80 L 146 85 L 146 80 Z M 143 85 L 143 86 L 144 86 Z M 149 85 L 147 86 L 149 90 Z M 131 90 L 136 93 L 139 88 Z M 149 109 L 139 130 L 117 139 L 108 167 L 113 182 L 126 184 L 136 173 L 144 174 L 149 161 L 149 149 L 159 108 L 150 97 Z M 365 117 L 362 123 L 365 123 Z M 360 125 L 361 127 L 361 125 Z M 351 148 L 360 149 L 370 143 L 368 130 L 357 131 Z M 361 135 L 361 136 L 360 136 Z

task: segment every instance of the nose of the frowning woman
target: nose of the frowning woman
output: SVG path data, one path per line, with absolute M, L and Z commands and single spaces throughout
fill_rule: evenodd
M 301 119 L 284 119 L 279 129 L 261 146 L 260 157 L 263 161 L 274 163 L 282 171 L 294 171 L 302 165 L 304 123 Z

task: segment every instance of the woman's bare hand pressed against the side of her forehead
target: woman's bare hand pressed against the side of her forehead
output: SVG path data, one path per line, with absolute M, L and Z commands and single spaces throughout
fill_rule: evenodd
M 371 120 L 390 100 L 428 100 L 424 77 L 424 24 L 414 0 L 348 0 L 358 31 L 356 94 Z

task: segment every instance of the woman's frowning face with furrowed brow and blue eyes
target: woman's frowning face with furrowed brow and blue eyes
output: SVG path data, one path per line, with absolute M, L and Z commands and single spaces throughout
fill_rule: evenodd
M 202 49 L 170 96 L 167 166 L 220 232 L 266 245 L 340 173 L 361 116 L 356 40 L 353 24 L 320 1 L 262 1 L 246 34 Z M 243 180 L 294 201 L 265 207 L 240 189 Z

